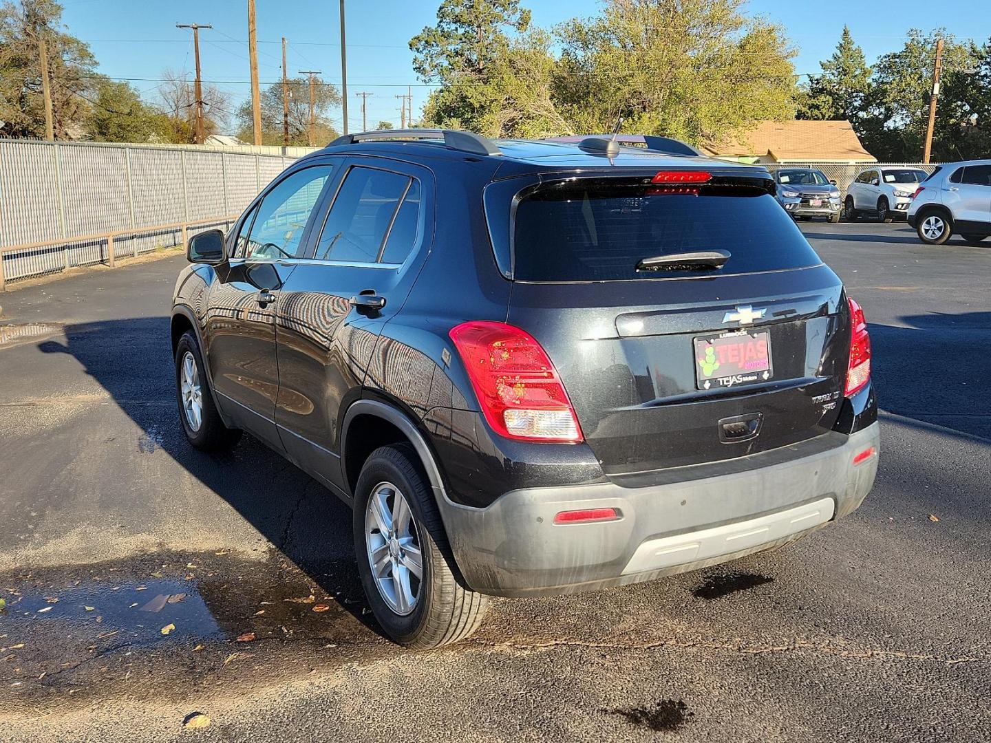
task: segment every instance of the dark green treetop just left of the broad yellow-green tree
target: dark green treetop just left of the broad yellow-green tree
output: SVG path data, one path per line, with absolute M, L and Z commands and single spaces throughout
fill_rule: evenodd
M 482 74 L 508 46 L 506 30 L 522 33 L 530 11 L 519 0 L 442 0 L 437 25 L 409 41 L 413 69 L 424 82 L 452 81 L 461 74 Z

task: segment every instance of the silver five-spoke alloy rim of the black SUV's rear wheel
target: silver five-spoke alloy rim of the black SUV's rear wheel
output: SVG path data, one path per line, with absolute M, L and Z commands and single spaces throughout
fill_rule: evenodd
M 385 604 L 401 616 L 412 613 L 423 581 L 423 554 L 409 503 L 391 482 L 372 488 L 365 508 L 365 544 Z

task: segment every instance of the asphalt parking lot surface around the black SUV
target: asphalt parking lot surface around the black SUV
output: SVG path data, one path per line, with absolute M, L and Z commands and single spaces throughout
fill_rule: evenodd
M 864 505 L 700 573 L 496 600 L 433 653 L 376 632 L 332 495 L 251 439 L 185 443 L 181 257 L 0 294 L 0 739 L 991 739 L 991 240 L 801 227 L 870 324 Z

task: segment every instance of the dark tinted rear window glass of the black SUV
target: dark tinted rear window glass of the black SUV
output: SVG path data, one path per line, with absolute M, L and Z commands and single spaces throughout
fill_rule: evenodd
M 819 265 L 792 218 L 757 189 L 734 195 L 575 184 L 522 198 L 513 228 L 513 278 L 610 281 L 722 275 Z M 741 195 L 745 193 L 747 195 Z M 717 269 L 638 270 L 643 259 L 728 251 Z

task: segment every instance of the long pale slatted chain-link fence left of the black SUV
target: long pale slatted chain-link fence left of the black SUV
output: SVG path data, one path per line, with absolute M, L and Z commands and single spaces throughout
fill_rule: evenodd
M 226 224 L 293 159 L 0 140 L 0 286 L 180 245 L 186 229 Z

